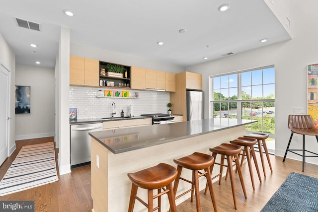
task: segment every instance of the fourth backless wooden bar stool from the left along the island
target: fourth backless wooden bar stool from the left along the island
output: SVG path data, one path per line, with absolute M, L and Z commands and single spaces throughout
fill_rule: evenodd
M 230 143 L 237 144 L 237 145 L 240 145 L 240 146 L 244 147 L 242 149 L 243 153 L 241 153 L 242 158 L 241 158 L 241 161 L 240 161 L 240 167 L 242 167 L 244 157 L 246 156 L 248 169 L 249 169 L 249 175 L 250 175 L 250 179 L 252 181 L 252 187 L 253 187 L 253 190 L 255 190 L 251 157 L 253 157 L 253 160 L 254 160 L 254 164 L 255 164 L 255 167 L 256 167 L 256 171 L 257 171 L 259 182 L 262 182 L 262 179 L 260 178 L 260 173 L 259 173 L 259 169 L 258 169 L 258 164 L 257 164 L 257 160 L 256 160 L 255 151 L 254 151 L 254 145 L 257 143 L 257 139 L 239 137 L 236 140 L 230 141 Z

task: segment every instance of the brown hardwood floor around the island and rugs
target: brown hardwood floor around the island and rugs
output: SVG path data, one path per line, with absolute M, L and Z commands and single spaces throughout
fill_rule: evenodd
M 22 145 L 49 141 L 53 141 L 53 137 L 16 141 L 17 149 L 0 166 L 0 178 L 2 179 Z M 258 154 L 258 152 L 256 154 Z M 302 172 L 301 161 L 286 159 L 285 163 L 283 163 L 282 157 L 270 155 L 270 158 L 273 173 L 270 172 L 269 166 L 266 164 L 267 177 L 264 178 L 260 168 L 262 183 L 258 180 L 256 170 L 253 170 L 255 190 L 252 189 L 248 166 L 247 164 L 243 165 L 242 172 L 247 199 L 244 198 L 239 177 L 235 174 L 238 210 L 234 209 L 230 179 L 225 180 L 223 178 L 221 185 L 219 185 L 218 182 L 213 184 L 219 212 L 260 211 L 292 171 L 318 178 L 318 165 L 307 163 L 305 164 L 305 172 Z M 257 159 L 260 161 L 259 158 Z M 200 199 L 202 212 L 214 211 L 209 194 L 205 196 L 204 191 L 201 191 Z M 59 176 L 59 181 L 57 182 L 2 196 L 0 200 L 34 200 L 35 212 L 89 212 L 92 209 L 92 199 L 90 197 L 90 165 L 72 169 L 72 173 Z M 191 203 L 190 199 L 188 199 L 177 206 L 177 211 L 196 212 L 195 201 Z

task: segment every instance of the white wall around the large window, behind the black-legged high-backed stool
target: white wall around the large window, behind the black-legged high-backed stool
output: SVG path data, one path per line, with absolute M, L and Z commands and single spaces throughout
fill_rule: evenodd
M 317 0 L 294 2 L 293 39 L 259 48 L 221 60 L 188 67 L 186 71 L 203 74 L 203 90 L 208 93 L 208 76 L 231 71 L 246 70 L 267 65 L 275 66 L 275 154 L 284 156 L 290 137 L 287 128 L 288 115 L 294 107 L 307 108 L 307 65 L 318 63 L 318 8 Z M 208 116 L 208 98 L 205 100 L 205 116 Z M 302 137 L 299 136 L 299 141 Z M 307 138 L 306 147 L 317 150 L 317 141 Z M 301 142 L 291 147 L 302 148 Z M 292 153 L 290 158 L 301 159 Z M 318 164 L 318 158 L 307 158 Z

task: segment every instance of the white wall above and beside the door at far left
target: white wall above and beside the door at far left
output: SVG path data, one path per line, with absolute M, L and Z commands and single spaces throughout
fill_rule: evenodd
M 0 33 L 0 64 L 10 71 L 10 92 L 9 92 L 9 155 L 15 149 L 15 55 L 12 49 Z

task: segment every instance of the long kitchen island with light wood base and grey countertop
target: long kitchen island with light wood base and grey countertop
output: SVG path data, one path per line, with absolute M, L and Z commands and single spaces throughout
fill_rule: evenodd
M 127 173 L 155 166 L 160 162 L 176 167 L 173 159 L 195 151 L 211 154 L 209 148 L 245 135 L 245 125 L 254 122 L 256 121 L 217 118 L 89 133 L 92 137 L 93 211 L 128 211 L 131 181 Z M 216 161 L 219 160 L 220 158 L 216 158 Z M 212 175 L 218 172 L 219 167 L 215 166 Z M 191 179 L 191 171 L 184 170 L 182 176 Z M 187 190 L 189 186 L 188 183 L 180 182 L 177 193 Z M 200 190 L 204 188 L 205 181 L 202 178 Z M 138 195 L 147 200 L 146 190 L 139 189 Z M 190 193 L 177 199 L 176 205 L 189 197 Z M 161 205 L 162 211 L 168 211 L 167 197 L 162 197 Z M 136 201 L 134 211 L 145 209 Z

